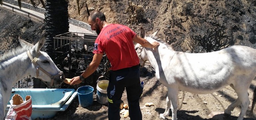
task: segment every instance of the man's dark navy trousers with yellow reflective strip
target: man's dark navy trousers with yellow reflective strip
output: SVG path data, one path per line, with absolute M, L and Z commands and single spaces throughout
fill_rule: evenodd
M 129 105 L 130 119 L 142 120 L 139 103 L 139 99 L 142 94 L 140 87 L 139 65 L 110 71 L 110 79 L 107 88 L 108 119 L 120 120 L 119 106 L 125 88 Z

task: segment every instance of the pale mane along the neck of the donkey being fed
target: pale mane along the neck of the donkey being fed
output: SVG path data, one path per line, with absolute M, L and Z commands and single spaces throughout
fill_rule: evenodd
M 9 50 L 8 52 L 5 52 L 3 55 L 0 56 L 0 63 L 6 60 L 9 60 L 15 56 L 20 55 L 21 53 L 30 50 L 32 47 L 30 45 L 25 46 L 19 46 L 17 48 L 14 48 L 12 50 Z

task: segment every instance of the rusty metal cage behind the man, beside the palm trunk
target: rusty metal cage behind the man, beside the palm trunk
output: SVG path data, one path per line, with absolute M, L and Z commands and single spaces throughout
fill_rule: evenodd
M 66 78 L 79 76 L 93 58 L 95 34 L 67 32 L 54 37 L 54 63 Z M 95 86 L 99 76 L 108 76 L 109 62 L 104 54 L 98 69 L 86 80 Z M 87 83 L 88 84 L 88 83 Z

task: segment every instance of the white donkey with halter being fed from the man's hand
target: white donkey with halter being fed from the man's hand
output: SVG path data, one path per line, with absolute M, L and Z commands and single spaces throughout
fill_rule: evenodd
M 60 85 L 64 74 L 54 64 L 47 53 L 40 51 L 45 44 L 46 36 L 36 45 L 19 37 L 22 47 L 13 49 L 0 56 L 0 120 L 4 120 L 5 109 L 10 99 L 13 85 L 20 79 L 31 75 L 50 83 Z

